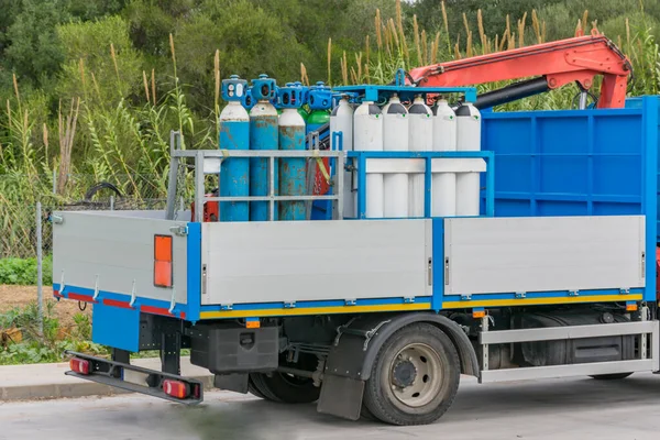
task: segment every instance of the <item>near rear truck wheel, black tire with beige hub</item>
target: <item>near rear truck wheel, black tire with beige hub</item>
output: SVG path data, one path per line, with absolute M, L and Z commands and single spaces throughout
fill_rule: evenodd
M 395 332 L 381 348 L 364 388 L 364 406 L 386 424 L 427 425 L 451 406 L 461 366 L 444 332 L 414 323 Z

